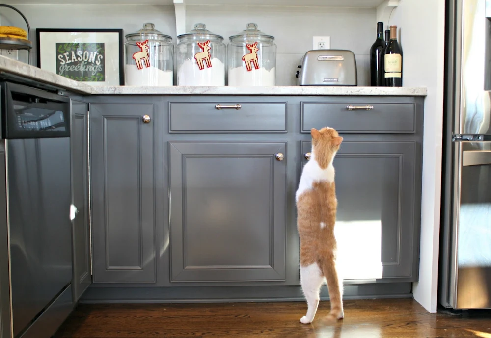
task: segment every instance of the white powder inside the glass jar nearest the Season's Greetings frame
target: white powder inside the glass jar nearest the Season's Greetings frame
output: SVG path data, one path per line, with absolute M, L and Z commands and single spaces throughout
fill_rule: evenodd
M 125 66 L 125 85 L 127 86 L 172 86 L 174 72 L 163 71 L 154 66 L 138 69 L 136 65 Z

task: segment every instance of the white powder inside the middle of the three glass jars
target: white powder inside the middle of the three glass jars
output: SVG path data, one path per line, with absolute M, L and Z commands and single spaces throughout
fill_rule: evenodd
M 179 86 L 224 86 L 225 65 L 218 58 L 211 59 L 212 66 L 208 68 L 203 62 L 204 69 L 199 69 L 196 60 L 186 60 L 177 71 Z

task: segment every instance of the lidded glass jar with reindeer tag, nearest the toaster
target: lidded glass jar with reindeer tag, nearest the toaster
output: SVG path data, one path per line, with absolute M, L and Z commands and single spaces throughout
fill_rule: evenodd
M 246 30 L 229 37 L 227 46 L 229 86 L 274 86 L 276 45 L 274 37 L 250 23 Z

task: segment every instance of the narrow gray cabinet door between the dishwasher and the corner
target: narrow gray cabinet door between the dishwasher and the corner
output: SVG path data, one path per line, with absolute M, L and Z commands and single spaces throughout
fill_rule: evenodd
M 88 182 L 87 104 L 72 100 L 70 152 L 72 204 L 78 209 L 72 221 L 73 298 L 77 302 L 92 283 Z

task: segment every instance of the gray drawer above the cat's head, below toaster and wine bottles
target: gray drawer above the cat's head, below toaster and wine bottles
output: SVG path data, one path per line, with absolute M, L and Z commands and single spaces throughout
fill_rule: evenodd
M 359 108 L 366 106 L 370 110 Z M 414 133 L 415 122 L 413 103 L 301 103 L 302 133 L 326 126 L 342 133 Z

